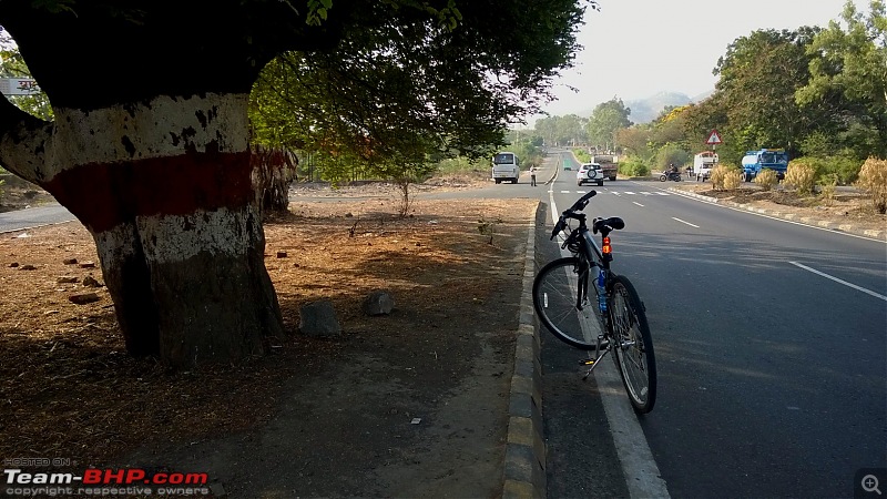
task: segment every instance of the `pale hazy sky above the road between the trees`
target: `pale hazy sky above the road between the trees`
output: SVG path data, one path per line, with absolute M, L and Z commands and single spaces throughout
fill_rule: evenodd
M 714 90 L 712 70 L 727 45 L 759 29 L 827 27 L 845 0 L 598 0 L 585 12 L 575 68 L 554 82 L 552 115 L 591 111 L 614 96 L 645 99 L 659 92 L 694 98 Z M 868 0 L 854 0 L 868 11 Z M 572 92 L 568 85 L 579 89 Z

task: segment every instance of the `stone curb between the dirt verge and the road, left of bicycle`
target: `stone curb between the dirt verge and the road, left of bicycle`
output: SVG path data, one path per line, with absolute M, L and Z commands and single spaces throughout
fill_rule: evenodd
M 502 498 L 546 497 L 546 444 L 542 439 L 541 365 L 533 313 L 536 276 L 536 212 L 527 235 L 520 323 L 514 345 L 514 374 L 509 396 L 508 440 L 502 471 Z

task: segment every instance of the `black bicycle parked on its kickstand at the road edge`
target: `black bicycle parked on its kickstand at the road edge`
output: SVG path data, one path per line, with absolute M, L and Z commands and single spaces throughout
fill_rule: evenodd
M 581 350 L 595 352 L 594 357 L 582 361 L 590 366 L 583 380 L 613 350 L 634 410 L 646 414 L 656 401 L 656 363 L 650 326 L 634 286 L 610 269 L 613 261 L 610 233 L 624 228 L 625 223 L 615 216 L 595 217 L 589 230 L 587 216 L 581 213 L 595 194 L 591 191 L 580 197 L 554 225 L 551 240 L 561 232 L 568 233 L 561 248 L 569 248 L 572 256 L 550 262 L 539 271 L 533 279 L 533 307 L 558 339 Z M 571 228 L 570 220 L 578 221 L 579 226 Z M 600 247 L 590 232 L 601 234 Z M 590 327 L 592 314 L 601 326 L 600 333 Z

